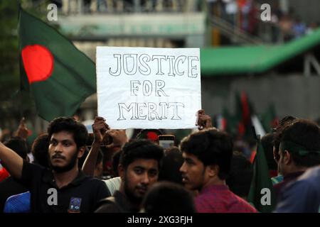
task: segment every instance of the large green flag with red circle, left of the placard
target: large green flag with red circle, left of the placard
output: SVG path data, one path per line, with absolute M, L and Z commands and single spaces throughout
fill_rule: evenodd
M 21 89 L 30 90 L 39 116 L 73 116 L 96 92 L 95 64 L 54 28 L 20 9 Z

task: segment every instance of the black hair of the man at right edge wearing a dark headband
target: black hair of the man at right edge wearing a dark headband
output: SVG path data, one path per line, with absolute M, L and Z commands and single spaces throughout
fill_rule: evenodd
M 313 167 L 320 164 L 320 129 L 313 121 L 297 119 L 286 124 L 277 134 L 277 140 L 280 142 L 280 152 L 288 150 L 295 165 Z M 296 152 L 297 149 L 281 149 L 282 143 L 288 142 L 307 153 Z

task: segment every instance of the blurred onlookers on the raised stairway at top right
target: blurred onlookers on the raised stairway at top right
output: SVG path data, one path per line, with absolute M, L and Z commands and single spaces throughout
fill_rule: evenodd
M 260 15 L 261 4 L 253 0 L 207 0 L 210 15 L 218 16 L 250 35 L 262 37 L 267 24 L 267 29 L 272 36 L 272 43 L 286 43 L 290 40 L 311 34 L 319 28 L 319 21 L 306 23 L 290 8 L 288 11 L 280 9 L 277 1 L 270 5 L 270 20 L 262 21 Z M 264 8 L 265 9 L 265 8 Z

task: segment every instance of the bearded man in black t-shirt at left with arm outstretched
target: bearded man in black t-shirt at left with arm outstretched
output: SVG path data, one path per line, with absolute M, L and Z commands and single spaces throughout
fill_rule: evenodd
M 31 192 L 31 211 L 79 213 L 94 211 L 110 196 L 105 183 L 85 176 L 78 159 L 85 152 L 87 129 L 74 118 L 55 118 L 48 126 L 50 168 L 34 165 L 0 143 L 1 163 Z

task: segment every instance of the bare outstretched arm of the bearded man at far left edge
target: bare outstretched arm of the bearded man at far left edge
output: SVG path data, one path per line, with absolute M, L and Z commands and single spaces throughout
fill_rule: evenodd
M 11 176 L 20 179 L 22 175 L 23 159 L 10 148 L 0 142 L 0 160 Z

